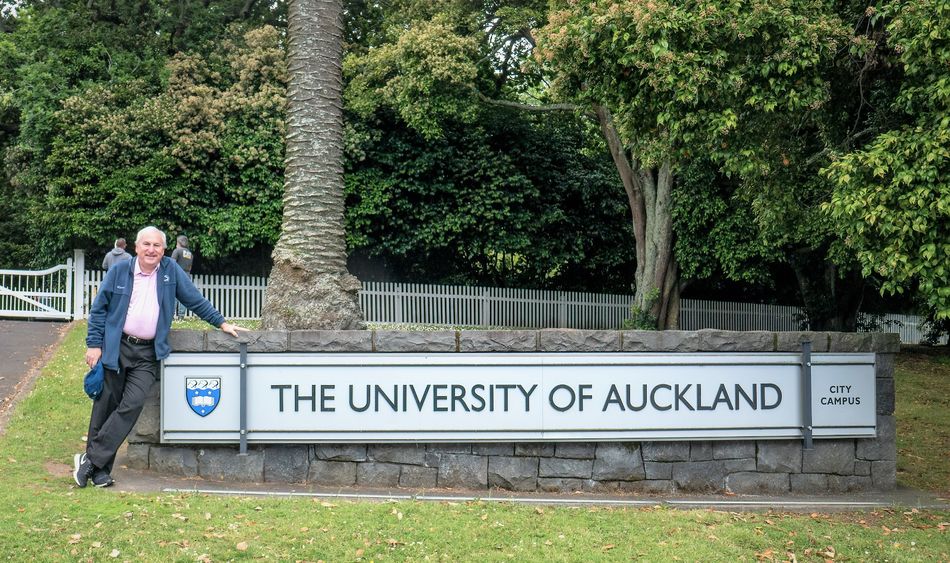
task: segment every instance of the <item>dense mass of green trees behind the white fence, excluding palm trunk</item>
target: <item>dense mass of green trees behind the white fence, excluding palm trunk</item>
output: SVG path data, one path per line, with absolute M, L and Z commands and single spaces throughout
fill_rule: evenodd
M 780 265 L 814 327 L 853 327 L 865 286 L 947 318 L 944 4 L 346 1 L 347 249 L 367 275 L 644 304 L 784 286 Z M 2 24 L 4 265 L 155 223 L 266 270 L 283 2 L 24 1 Z

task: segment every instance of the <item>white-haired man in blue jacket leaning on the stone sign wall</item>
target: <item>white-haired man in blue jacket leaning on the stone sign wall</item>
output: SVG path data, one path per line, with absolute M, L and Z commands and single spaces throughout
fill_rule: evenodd
M 109 270 L 89 312 L 86 364 L 102 361 L 105 384 L 92 405 L 86 451 L 73 460 L 79 487 L 90 479 L 97 487 L 113 483 L 116 451 L 142 412 L 158 362 L 169 354 L 176 300 L 232 336 L 247 330 L 225 322 L 181 267 L 165 257 L 166 246 L 165 233 L 156 227 L 139 231 L 135 260 Z

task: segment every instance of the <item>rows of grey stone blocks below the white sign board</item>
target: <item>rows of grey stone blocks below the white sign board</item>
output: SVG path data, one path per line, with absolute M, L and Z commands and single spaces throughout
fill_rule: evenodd
M 893 489 L 895 462 L 862 459 L 866 449 L 855 442 L 816 440 L 813 450 L 788 440 L 713 443 L 711 451 L 730 457 L 700 460 L 674 452 L 691 445 L 705 451 L 708 442 L 267 445 L 246 456 L 234 446 L 137 443 L 129 452 L 136 468 L 159 473 L 330 487 L 763 495 Z M 652 461 L 658 458 L 680 461 Z

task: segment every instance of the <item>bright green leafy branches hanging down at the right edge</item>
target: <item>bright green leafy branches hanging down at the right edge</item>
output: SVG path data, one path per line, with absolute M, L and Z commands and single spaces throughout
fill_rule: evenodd
M 824 170 L 824 207 L 865 275 L 884 292 L 916 284 L 937 319 L 950 318 L 950 6 L 885 5 L 888 42 L 906 79 L 893 101 L 902 123 Z M 902 116 L 901 116 L 902 114 Z

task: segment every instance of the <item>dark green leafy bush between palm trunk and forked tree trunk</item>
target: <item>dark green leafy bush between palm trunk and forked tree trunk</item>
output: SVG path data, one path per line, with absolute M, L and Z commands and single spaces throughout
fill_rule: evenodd
M 625 202 L 603 155 L 583 155 L 573 118 L 506 111 L 441 126 L 435 141 L 392 122 L 351 131 L 351 249 L 400 279 L 628 287 Z

